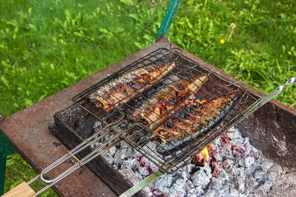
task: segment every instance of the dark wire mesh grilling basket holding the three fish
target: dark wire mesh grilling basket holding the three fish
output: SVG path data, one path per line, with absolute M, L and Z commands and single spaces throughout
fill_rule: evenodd
M 117 99 L 117 101 L 109 103 L 110 107 L 108 108 L 98 109 L 94 104 L 96 101 L 88 98 L 88 96 L 93 92 L 97 91 L 99 88 L 111 82 L 112 79 L 115 79 L 118 76 L 122 76 L 125 73 L 129 73 L 144 66 L 168 63 L 175 63 L 176 65 L 173 70 L 165 70 L 168 74 L 163 76 L 163 73 L 159 73 L 160 76 L 162 75 L 161 79 L 156 79 L 157 77 L 153 78 L 155 83 L 144 84 L 142 86 L 143 91 L 136 91 L 132 96 L 129 95 L 123 99 L 119 99 L 116 98 L 116 95 L 112 95 Z M 141 104 L 148 100 L 152 95 L 157 95 L 158 91 L 164 86 L 173 82 L 178 82 L 181 79 L 188 80 L 187 77 L 197 75 L 206 76 L 206 79 L 201 82 L 202 85 L 197 87 L 196 90 L 191 92 L 189 95 L 184 96 L 183 100 L 179 100 L 180 102 L 178 102 L 178 104 L 174 104 L 174 106 L 171 107 L 170 110 L 166 110 L 164 114 L 157 114 L 159 116 L 157 120 L 151 120 L 149 124 L 145 124 L 135 121 L 132 117 L 131 114 L 135 109 L 141 106 Z M 191 98 L 193 94 L 195 96 L 194 102 L 200 102 L 200 100 L 204 99 L 211 102 L 213 99 L 224 98 L 227 96 L 229 97 L 233 94 L 239 95 L 240 99 L 233 110 L 227 112 L 223 117 L 222 124 L 220 126 L 217 125 L 216 127 L 208 128 L 207 133 L 202 134 L 202 137 L 199 137 L 193 143 L 186 144 L 186 146 L 179 149 L 177 153 L 167 153 L 168 156 L 164 157 L 153 152 L 149 146 L 144 146 L 149 141 L 150 143 L 153 143 L 154 146 L 160 147 L 160 144 L 157 141 L 149 139 L 149 136 L 153 133 L 153 130 L 150 130 L 151 125 L 153 125 L 153 127 L 161 127 L 161 123 L 163 121 L 176 125 L 169 120 L 168 117 L 175 115 L 176 111 L 182 111 L 183 113 L 188 114 L 188 112 L 184 109 L 192 102 L 186 103 L 185 100 Z M 159 96 L 162 99 L 165 99 L 163 96 Z M 95 133 L 88 139 L 89 141 L 93 140 L 89 143 L 93 143 L 107 135 L 111 136 L 106 144 L 97 148 L 92 154 L 82 159 L 81 162 L 82 164 L 87 163 L 92 158 L 111 148 L 111 146 L 115 145 L 120 140 L 125 140 L 141 155 L 147 157 L 147 159 L 153 164 L 163 169 L 165 172 L 174 173 L 229 127 L 236 124 L 236 121 L 238 121 L 240 117 L 247 113 L 258 102 L 260 102 L 261 99 L 262 98 L 257 95 L 253 95 L 248 92 L 247 84 L 243 82 L 230 82 L 221 75 L 213 72 L 213 66 L 207 63 L 198 64 L 182 56 L 182 51 L 180 49 L 158 49 L 147 56 L 140 58 L 133 64 L 122 68 L 120 71 L 113 73 L 73 98 L 75 103 L 95 116 L 105 125 L 104 130 Z M 126 102 L 126 100 L 128 101 Z M 170 103 L 167 100 L 166 102 Z M 151 113 L 155 112 L 151 110 Z M 193 125 L 193 127 L 195 126 Z M 194 136 L 192 136 L 192 138 L 194 138 Z M 165 138 L 163 139 L 167 140 Z M 167 143 L 171 142 L 167 141 Z

